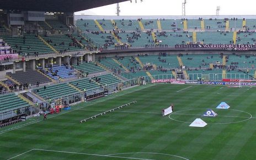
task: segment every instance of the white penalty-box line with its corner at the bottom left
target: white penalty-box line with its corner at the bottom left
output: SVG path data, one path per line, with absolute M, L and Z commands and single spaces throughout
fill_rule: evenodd
M 111 155 L 103 155 L 103 154 L 92 154 L 92 153 L 79 153 L 79 152 L 67 152 L 67 151 L 55 151 L 55 150 L 43 150 L 43 149 L 32 149 L 29 151 L 26 151 L 22 154 L 28 153 L 30 151 L 45 151 L 45 152 L 58 152 L 58 153 L 71 153 L 71 154 L 83 154 L 83 155 L 88 155 L 88 156 L 99 156 L 99 157 L 113 157 L 113 158 L 126 158 L 126 159 L 139 159 L 139 160 L 157 160 L 157 159 L 147 159 L 147 158 L 135 158 L 135 157 L 122 157 L 122 156 L 111 156 Z M 22 154 L 19 154 L 17 156 L 14 156 L 9 159 L 13 159 L 16 157 L 21 156 Z M 7 160 L 9 160 L 7 159 Z

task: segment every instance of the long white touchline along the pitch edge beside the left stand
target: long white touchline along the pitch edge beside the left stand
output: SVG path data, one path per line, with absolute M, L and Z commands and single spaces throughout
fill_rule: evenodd
M 116 98 L 116 97 L 120 97 L 120 96 L 122 96 L 122 95 L 126 95 L 126 94 L 130 94 L 130 93 L 133 93 L 133 92 L 137 92 L 138 90 L 146 89 L 146 88 L 148 88 L 148 87 L 152 87 L 152 86 L 149 85 L 149 86 L 147 86 L 147 87 L 143 87 L 143 88 L 140 88 L 140 89 L 132 90 L 131 92 L 127 92 L 127 93 L 119 94 L 119 95 L 114 95 L 113 97 L 109 97 L 109 98 L 106 98 L 106 99 L 103 99 L 103 100 L 99 100 L 99 101 L 97 101 L 97 102 L 87 102 L 87 103 L 90 103 L 90 104 L 89 104 L 89 105 L 86 105 L 86 106 L 81 106 L 80 108 L 77 108 L 77 109 L 74 109 L 74 110 L 71 110 L 71 111 L 75 111 L 75 110 L 78 110 L 78 109 L 81 109 L 81 108 L 86 108 L 86 107 L 88 107 L 88 106 L 90 106 L 90 105 L 98 104 L 98 103 L 104 102 L 104 101 L 106 101 L 106 100 L 110 100 L 110 99 L 113 99 L 113 98 Z M 67 111 L 67 112 L 62 113 L 62 114 L 58 114 L 58 115 L 55 115 L 55 116 L 51 116 L 51 117 L 48 118 L 48 119 L 55 118 L 56 116 L 60 116 L 60 115 L 66 114 L 66 113 L 70 113 L 71 111 Z M 42 121 L 42 120 L 40 120 L 40 121 Z M 24 125 L 20 125 L 20 126 L 17 126 L 17 127 L 12 127 L 12 128 L 10 128 L 10 129 L 7 129 L 7 130 L 2 130 L 2 131 L 0 131 L 0 135 L 6 133 L 6 132 L 8 132 L 8 131 L 12 131 L 12 130 L 19 129 L 19 128 L 24 127 L 24 126 L 28 126 L 28 125 L 30 125 L 30 124 L 35 124 L 35 123 L 40 122 L 40 121 L 34 121 L 33 123 L 26 123 L 26 124 L 24 124 Z

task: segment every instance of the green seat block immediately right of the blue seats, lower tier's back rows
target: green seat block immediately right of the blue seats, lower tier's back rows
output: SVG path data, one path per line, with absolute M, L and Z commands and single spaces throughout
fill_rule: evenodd
M 73 67 L 76 68 L 76 70 L 82 71 L 84 73 L 89 72 L 89 74 L 105 71 L 104 68 L 98 66 L 94 62 L 82 63 L 79 65 L 74 65 Z

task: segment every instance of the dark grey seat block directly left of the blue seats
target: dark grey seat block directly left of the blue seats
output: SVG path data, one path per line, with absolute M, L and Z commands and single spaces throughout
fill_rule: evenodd
M 38 71 L 32 71 L 32 70 L 27 70 L 26 72 L 23 71 L 18 71 L 16 73 L 7 73 L 10 77 L 15 79 L 16 81 L 25 84 L 25 83 L 30 83 L 31 85 L 36 84 L 36 82 L 39 83 L 47 83 L 51 82 L 49 78 L 46 76 L 42 75 Z

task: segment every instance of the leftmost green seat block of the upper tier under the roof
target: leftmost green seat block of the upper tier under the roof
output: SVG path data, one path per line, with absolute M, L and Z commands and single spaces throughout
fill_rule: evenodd
M 34 55 L 35 52 L 39 54 L 53 53 L 54 51 L 44 44 L 36 35 L 25 36 L 2 36 L 13 50 L 24 54 Z M 24 39 L 25 38 L 25 39 Z

